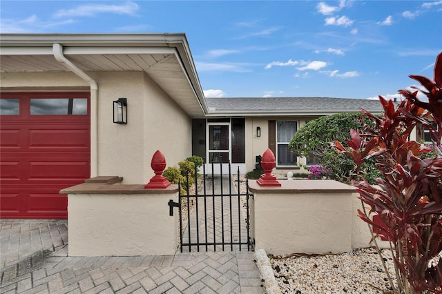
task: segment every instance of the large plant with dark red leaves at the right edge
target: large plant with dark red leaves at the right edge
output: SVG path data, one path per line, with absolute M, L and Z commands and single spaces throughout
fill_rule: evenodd
M 436 57 L 434 81 L 417 75 L 410 78 L 425 89 L 399 90 L 406 99 L 396 107 L 379 96 L 383 115 L 362 110 L 376 127 L 366 126 L 362 135 L 352 130 L 349 148 L 338 141 L 334 146 L 352 157 L 356 171 L 369 157 L 376 158 L 382 174 L 376 186 L 362 177 L 352 184 L 358 188 L 363 208 L 369 206 L 368 212 L 364 208 L 358 213 L 371 225 L 376 248 L 376 237 L 390 241 L 397 281 L 394 284 L 389 275 L 393 291 L 442 293 L 442 52 Z M 417 97 L 419 91 L 428 102 Z M 421 158 L 421 144 L 410 139 L 416 126 L 430 130 L 434 157 Z M 373 222 L 371 215 L 378 215 L 382 224 Z M 387 273 L 385 264 L 384 268 Z

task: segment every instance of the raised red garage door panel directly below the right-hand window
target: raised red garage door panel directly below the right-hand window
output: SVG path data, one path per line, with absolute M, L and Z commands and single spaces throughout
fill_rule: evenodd
M 75 148 L 76 150 L 89 150 L 89 130 L 29 130 L 29 149 L 35 148 L 56 148 L 64 150 L 66 148 Z

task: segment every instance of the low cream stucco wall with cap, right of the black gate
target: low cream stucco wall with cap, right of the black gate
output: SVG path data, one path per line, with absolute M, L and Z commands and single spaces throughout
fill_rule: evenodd
M 357 213 L 352 186 L 332 180 L 281 180 L 281 187 L 249 182 L 258 249 L 269 254 L 342 253 L 370 246 L 371 234 Z

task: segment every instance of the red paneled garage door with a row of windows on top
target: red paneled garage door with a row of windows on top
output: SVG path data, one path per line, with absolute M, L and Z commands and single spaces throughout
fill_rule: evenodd
M 0 218 L 66 219 L 90 177 L 89 93 L 1 93 Z

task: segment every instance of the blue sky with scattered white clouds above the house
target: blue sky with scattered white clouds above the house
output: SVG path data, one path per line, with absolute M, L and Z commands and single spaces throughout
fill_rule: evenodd
M 184 32 L 206 97 L 391 97 L 433 77 L 442 1 L 8 1 L 1 32 Z

